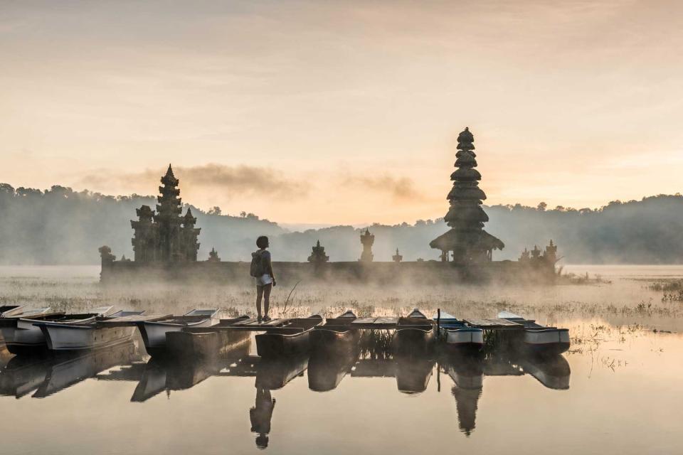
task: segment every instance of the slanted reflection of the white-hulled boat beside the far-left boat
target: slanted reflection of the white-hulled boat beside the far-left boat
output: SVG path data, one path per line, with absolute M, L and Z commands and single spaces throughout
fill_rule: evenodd
M 129 365 L 142 356 L 135 343 L 109 349 L 89 350 L 79 355 L 62 354 L 48 360 L 45 380 L 33 397 L 43 398 L 97 375 L 116 365 Z

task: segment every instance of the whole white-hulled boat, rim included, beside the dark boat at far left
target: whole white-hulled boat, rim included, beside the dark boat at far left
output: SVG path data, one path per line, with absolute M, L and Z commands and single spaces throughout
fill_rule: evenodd
M 98 316 L 90 323 L 39 321 L 34 325 L 43 331 L 49 350 L 89 350 L 129 341 L 135 333 L 135 319 L 131 316 L 140 316 L 143 313 L 144 311 L 118 311 L 111 316 Z

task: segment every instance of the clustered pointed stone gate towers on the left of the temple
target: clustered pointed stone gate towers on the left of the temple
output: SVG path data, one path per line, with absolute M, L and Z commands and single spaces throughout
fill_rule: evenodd
M 170 164 L 162 183 L 157 213 L 149 205 L 142 205 L 136 210 L 138 219 L 130 222 L 135 231 L 132 240 L 135 262 L 196 261 L 199 229 L 194 225 L 197 219 L 189 208 L 181 215 L 180 190 L 176 188 L 179 180 Z

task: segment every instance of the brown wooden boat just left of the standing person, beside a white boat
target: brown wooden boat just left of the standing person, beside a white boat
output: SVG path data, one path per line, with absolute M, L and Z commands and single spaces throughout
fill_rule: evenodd
M 249 316 L 235 319 L 221 319 L 210 327 L 184 327 L 181 331 L 166 332 L 166 350 L 171 357 L 216 358 L 231 355 L 240 346 L 251 343 L 248 331 L 221 330 L 235 323 L 247 321 Z

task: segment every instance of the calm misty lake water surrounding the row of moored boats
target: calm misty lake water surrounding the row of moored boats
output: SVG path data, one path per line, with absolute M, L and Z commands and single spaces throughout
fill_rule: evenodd
M 394 357 L 374 347 L 375 338 L 349 355 L 278 362 L 258 358 L 253 342 L 212 363 L 152 360 L 139 338 L 57 358 L 0 350 L 1 453 L 683 453 L 683 302 L 647 289 L 647 280 L 683 277 L 683 267 L 587 267 L 567 268 L 610 284 L 430 291 L 464 316 L 512 307 L 569 328 L 570 350 L 549 359 L 496 349 L 475 358 Z M 74 307 L 169 305 L 98 289 L 92 270 L 5 267 L 0 296 Z M 216 299 L 240 313 L 249 292 Z M 418 291 L 402 297 L 400 289 L 356 289 L 348 299 L 346 289 L 332 297 L 302 292 L 302 311 L 430 306 L 415 301 Z

